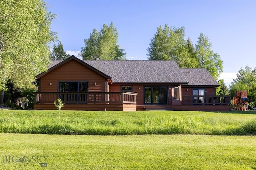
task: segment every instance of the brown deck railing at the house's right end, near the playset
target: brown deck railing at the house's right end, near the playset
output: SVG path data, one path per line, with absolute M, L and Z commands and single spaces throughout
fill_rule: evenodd
M 182 105 L 230 105 L 230 96 L 182 96 Z

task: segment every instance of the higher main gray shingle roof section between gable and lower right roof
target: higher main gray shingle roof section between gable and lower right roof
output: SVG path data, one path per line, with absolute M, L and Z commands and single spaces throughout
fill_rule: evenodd
M 84 62 L 96 68 L 96 61 Z M 175 61 L 100 60 L 99 70 L 114 83 L 188 83 Z

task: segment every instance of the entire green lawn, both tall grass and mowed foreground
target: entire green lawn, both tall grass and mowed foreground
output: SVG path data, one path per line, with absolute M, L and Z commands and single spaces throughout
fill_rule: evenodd
M 0 169 L 256 170 L 255 153 L 256 111 L 0 110 Z

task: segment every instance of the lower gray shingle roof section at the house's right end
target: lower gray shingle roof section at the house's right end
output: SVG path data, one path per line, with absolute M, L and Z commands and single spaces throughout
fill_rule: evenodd
M 219 86 L 205 68 L 180 68 L 188 80 L 184 86 Z

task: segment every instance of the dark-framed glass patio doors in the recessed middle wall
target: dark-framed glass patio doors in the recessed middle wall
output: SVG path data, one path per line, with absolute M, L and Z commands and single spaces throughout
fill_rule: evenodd
M 144 87 L 144 104 L 167 104 L 167 87 Z

